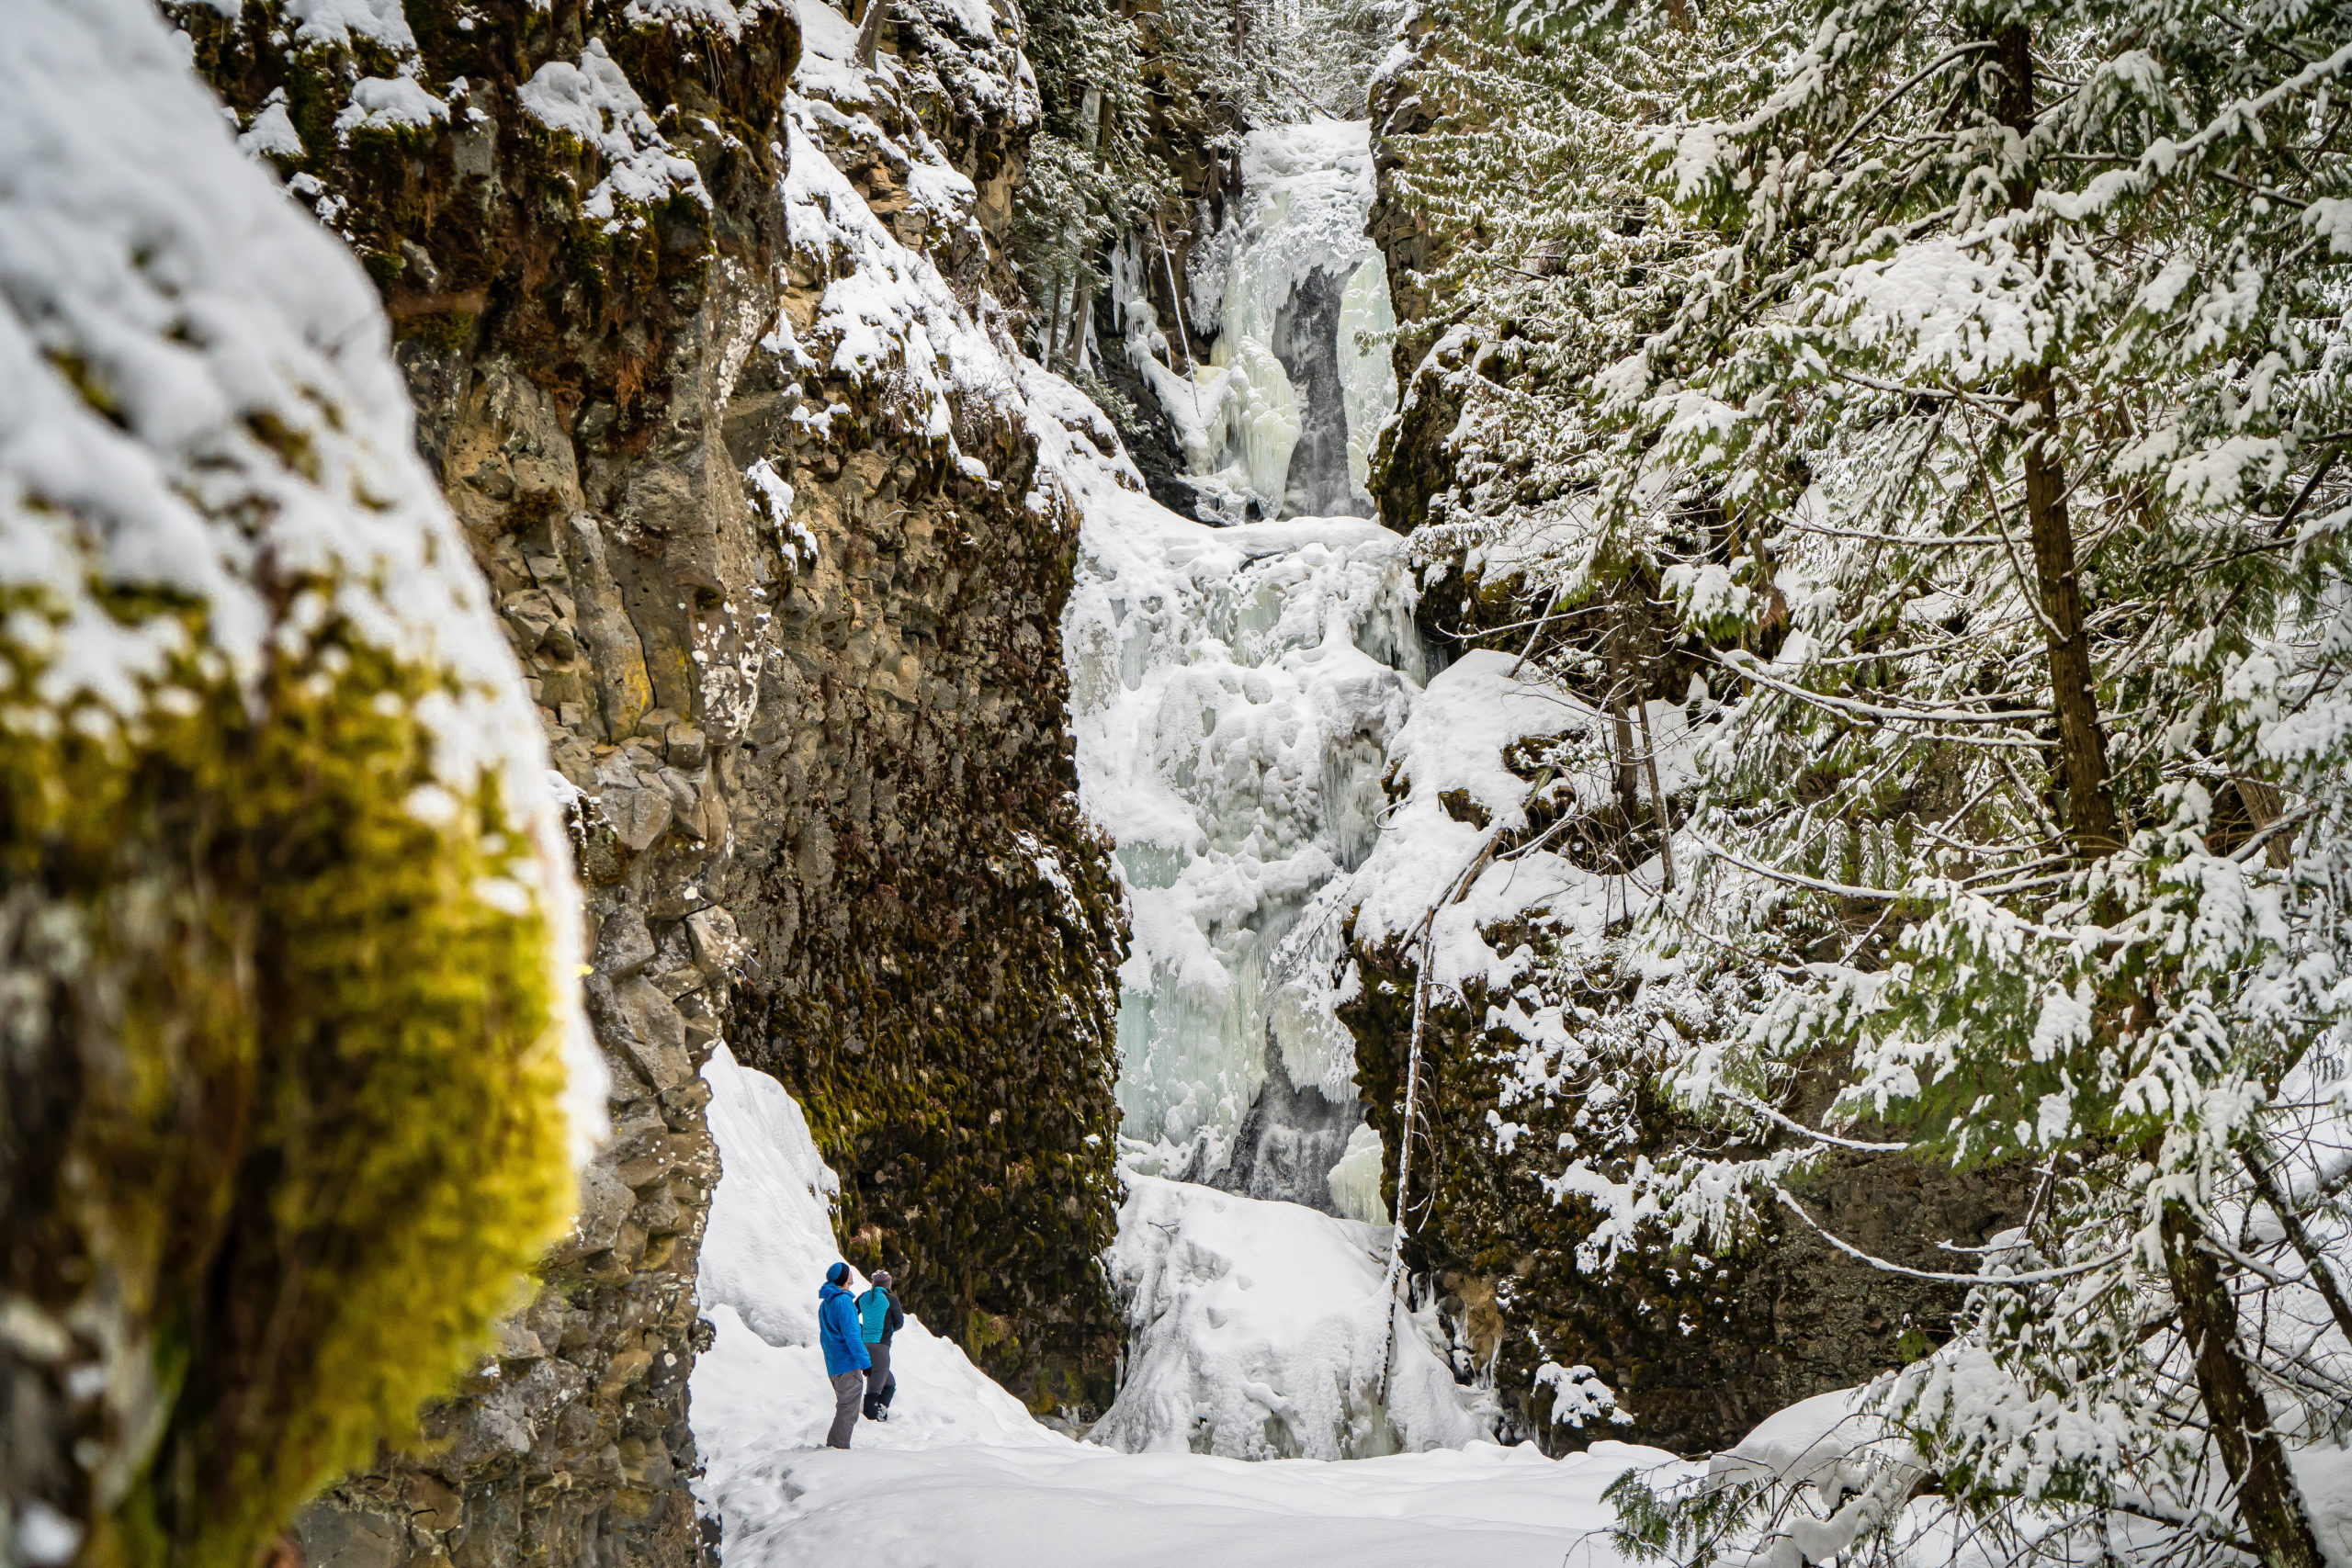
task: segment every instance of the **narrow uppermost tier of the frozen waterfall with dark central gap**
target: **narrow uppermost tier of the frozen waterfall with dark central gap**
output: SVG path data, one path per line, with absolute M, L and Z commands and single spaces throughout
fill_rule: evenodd
M 1371 440 L 1397 407 L 1388 270 L 1364 237 L 1371 122 L 1251 132 L 1242 202 L 1192 249 L 1188 315 L 1211 348 L 1190 374 L 1148 303 L 1141 237 L 1112 256 L 1127 355 L 1183 440 L 1202 515 L 1369 517 Z

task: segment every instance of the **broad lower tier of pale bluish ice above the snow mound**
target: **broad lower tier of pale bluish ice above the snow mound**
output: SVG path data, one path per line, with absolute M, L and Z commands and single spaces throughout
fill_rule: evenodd
M 1371 853 L 1428 675 L 1404 541 L 1352 517 L 1216 529 L 1108 477 L 1082 510 L 1063 654 L 1080 788 L 1134 900 L 1127 1133 L 1211 1178 L 1251 1131 L 1244 1190 L 1329 1206 L 1362 1121 L 1322 994 L 1334 882 Z M 1244 1128 L 1270 1081 L 1303 1114 Z

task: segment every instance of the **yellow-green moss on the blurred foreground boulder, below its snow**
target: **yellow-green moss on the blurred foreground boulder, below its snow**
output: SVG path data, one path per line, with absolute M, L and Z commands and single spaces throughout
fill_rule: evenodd
M 56 938 L 0 957 L 78 1079 L 9 1128 L 64 1178 L 5 1284 L 99 1312 L 127 1401 L 87 1568 L 247 1568 L 416 1434 L 569 1201 L 548 926 L 485 898 L 501 802 L 409 809 L 440 677 L 329 625 L 254 703 L 195 661 L 169 684 L 193 701 L 0 748 L 0 875 Z

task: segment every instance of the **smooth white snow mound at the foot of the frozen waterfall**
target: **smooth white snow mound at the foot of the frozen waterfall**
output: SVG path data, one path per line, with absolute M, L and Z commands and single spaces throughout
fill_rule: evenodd
M 1392 1319 L 1388 1229 L 1129 1175 L 1110 1274 L 1127 1300 L 1127 1382 L 1091 1439 L 1131 1453 L 1355 1460 L 1461 1448 L 1491 1399 L 1458 1387 L 1430 1314 Z

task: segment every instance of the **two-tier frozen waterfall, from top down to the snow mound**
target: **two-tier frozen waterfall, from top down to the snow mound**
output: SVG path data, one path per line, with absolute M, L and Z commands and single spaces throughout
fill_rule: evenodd
M 1364 494 L 1395 409 L 1367 129 L 1247 139 L 1237 219 L 1192 256 L 1195 322 L 1218 331 L 1190 376 L 1145 303 L 1167 256 L 1115 256 L 1127 350 L 1183 430 L 1204 515 L 1279 520 L 1176 517 L 1117 484 L 1110 451 L 1080 458 L 1103 482 L 1063 651 L 1087 811 L 1134 900 L 1129 1164 L 1378 1220 L 1331 973 L 1345 872 L 1378 839 L 1388 748 L 1430 672 L 1406 543 Z

